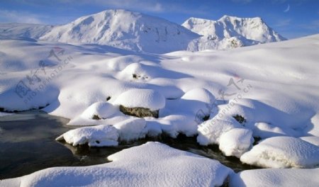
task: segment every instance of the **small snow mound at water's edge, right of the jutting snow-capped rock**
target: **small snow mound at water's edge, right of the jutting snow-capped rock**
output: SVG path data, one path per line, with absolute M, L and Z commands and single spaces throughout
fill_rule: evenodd
M 120 133 L 120 140 L 133 141 L 145 137 L 146 121 L 144 118 L 130 118 L 113 125 Z

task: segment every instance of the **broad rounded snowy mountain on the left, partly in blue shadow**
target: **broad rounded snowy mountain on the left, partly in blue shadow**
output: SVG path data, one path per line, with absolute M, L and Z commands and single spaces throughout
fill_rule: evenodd
M 144 52 L 186 50 L 196 33 L 162 18 L 125 10 L 107 10 L 56 26 L 41 40 L 111 45 Z

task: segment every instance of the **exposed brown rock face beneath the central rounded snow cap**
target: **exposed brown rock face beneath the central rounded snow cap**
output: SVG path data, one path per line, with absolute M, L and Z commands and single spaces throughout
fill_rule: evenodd
M 138 118 L 144 117 L 153 117 L 158 118 L 159 110 L 151 111 L 149 108 L 142 108 L 142 107 L 135 107 L 135 108 L 128 108 L 125 106 L 120 106 L 120 111 L 125 115 L 133 115 Z

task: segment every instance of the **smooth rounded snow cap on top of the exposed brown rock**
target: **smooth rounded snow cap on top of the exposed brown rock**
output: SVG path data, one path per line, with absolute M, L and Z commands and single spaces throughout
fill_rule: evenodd
M 141 107 L 156 111 L 164 108 L 165 98 L 158 91 L 151 89 L 130 89 L 118 96 L 114 104 L 128 108 Z

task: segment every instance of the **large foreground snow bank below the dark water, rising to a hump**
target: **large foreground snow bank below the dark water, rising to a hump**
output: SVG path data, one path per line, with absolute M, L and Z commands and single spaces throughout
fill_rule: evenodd
M 158 142 L 124 149 L 112 162 L 85 167 L 55 167 L 5 179 L 0 186 L 221 186 L 233 173 L 216 160 Z

